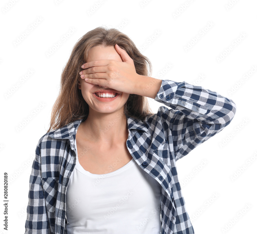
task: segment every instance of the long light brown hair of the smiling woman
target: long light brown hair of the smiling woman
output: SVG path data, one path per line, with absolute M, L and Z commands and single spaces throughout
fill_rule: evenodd
M 87 118 L 88 104 L 78 88 L 78 81 L 81 79 L 79 75 L 82 70 L 81 66 L 86 63 L 88 51 L 91 48 L 99 45 L 115 46 L 115 44 L 124 49 L 133 59 L 137 74 L 151 76 L 152 64 L 150 60 L 139 52 L 127 35 L 117 29 L 105 29 L 104 27 L 87 32 L 73 47 L 69 60 L 62 70 L 60 91 L 52 107 L 50 127 L 47 132 L 63 127 L 77 119 Z M 150 109 L 147 97 L 130 94 L 124 105 L 124 114 L 143 120 L 146 116 L 154 113 Z

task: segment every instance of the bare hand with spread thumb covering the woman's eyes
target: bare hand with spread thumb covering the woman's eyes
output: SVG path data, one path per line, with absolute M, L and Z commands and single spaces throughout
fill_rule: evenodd
M 83 64 L 85 70 L 79 74 L 82 79 L 91 84 L 99 84 L 120 92 L 137 94 L 141 75 L 136 73 L 134 61 L 127 52 L 115 45 L 123 62 L 112 59 L 95 60 Z

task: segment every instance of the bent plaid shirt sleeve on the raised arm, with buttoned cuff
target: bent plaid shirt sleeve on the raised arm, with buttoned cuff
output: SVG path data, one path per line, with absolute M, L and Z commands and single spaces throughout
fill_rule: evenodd
M 176 161 L 224 129 L 236 112 L 231 99 L 185 81 L 162 80 L 154 100 L 171 108 L 161 115 Z

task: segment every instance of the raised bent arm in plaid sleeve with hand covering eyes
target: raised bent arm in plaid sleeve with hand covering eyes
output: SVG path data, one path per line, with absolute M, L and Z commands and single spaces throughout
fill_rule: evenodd
M 124 49 L 115 45 L 123 62 L 101 59 L 81 67 L 81 78 L 91 84 L 138 94 L 170 107 L 159 108 L 168 143 L 180 159 L 216 133 L 233 119 L 235 103 L 217 92 L 187 82 L 159 80 L 136 73 L 133 60 Z M 94 68 L 94 70 L 93 70 Z

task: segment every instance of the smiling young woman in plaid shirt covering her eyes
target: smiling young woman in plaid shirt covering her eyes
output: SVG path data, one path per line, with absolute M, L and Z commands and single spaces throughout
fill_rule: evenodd
M 194 233 L 176 161 L 222 131 L 236 105 L 152 78 L 148 66 L 151 75 L 149 59 L 116 29 L 76 43 L 36 147 L 25 233 Z M 165 106 L 152 113 L 147 97 Z

